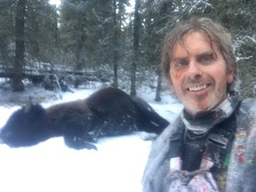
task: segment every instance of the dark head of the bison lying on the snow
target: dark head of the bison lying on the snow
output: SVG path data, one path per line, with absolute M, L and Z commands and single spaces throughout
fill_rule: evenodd
M 26 147 L 45 140 L 45 110 L 40 105 L 28 105 L 12 114 L 0 130 L 0 141 L 10 147 Z

